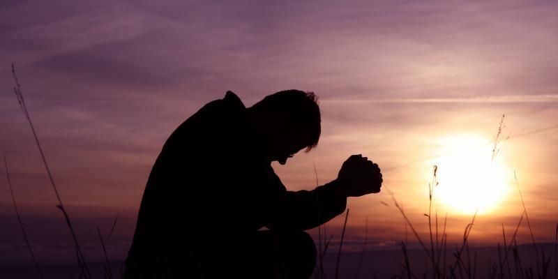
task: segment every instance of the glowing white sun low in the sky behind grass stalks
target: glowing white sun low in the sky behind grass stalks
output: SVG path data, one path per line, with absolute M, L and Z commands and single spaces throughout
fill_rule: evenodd
M 511 191 L 513 172 L 499 160 L 500 154 L 492 156 L 490 139 L 452 135 L 437 144 L 441 156 L 431 162 L 437 165 L 438 182 L 433 200 L 452 213 L 497 211 Z

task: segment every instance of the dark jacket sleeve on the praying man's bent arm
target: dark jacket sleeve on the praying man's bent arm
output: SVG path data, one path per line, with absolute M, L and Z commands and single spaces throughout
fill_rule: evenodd
M 220 223 L 246 230 L 268 227 L 301 231 L 322 225 L 345 211 L 347 197 L 338 181 L 314 190 L 287 191 L 271 165 L 230 164 L 226 174 L 209 176 L 220 190 L 212 206 Z M 209 209 L 206 209 L 209 210 Z

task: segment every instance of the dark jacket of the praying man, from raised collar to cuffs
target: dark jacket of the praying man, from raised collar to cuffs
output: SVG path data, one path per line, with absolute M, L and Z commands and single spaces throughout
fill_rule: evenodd
M 255 262 L 240 255 L 257 252 L 261 235 L 285 239 L 345 210 L 335 181 L 287 191 L 252 133 L 231 91 L 172 133 L 147 181 L 125 278 L 250 278 Z

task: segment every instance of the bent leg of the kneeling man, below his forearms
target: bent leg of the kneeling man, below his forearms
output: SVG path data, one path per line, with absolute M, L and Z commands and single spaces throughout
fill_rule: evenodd
M 308 279 L 316 262 L 316 246 L 306 232 L 206 235 L 195 242 L 202 271 L 195 278 Z

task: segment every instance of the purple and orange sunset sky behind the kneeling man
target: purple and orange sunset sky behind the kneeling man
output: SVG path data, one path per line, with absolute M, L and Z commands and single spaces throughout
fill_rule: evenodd
M 91 258 L 97 227 L 107 235 L 115 218 L 107 248 L 126 256 L 165 140 L 227 90 L 247 107 L 284 89 L 319 96 L 318 147 L 273 163 L 289 190 L 335 179 L 352 154 L 379 164 L 382 192 L 348 200 L 347 250 L 416 243 L 395 202 L 427 239 L 429 183 L 448 243 L 477 209 L 473 245 L 502 243 L 520 219 L 529 243 L 527 218 L 536 241 L 552 242 L 557 12 L 555 1 L 1 1 L 0 151 L 29 239 L 43 261 L 73 257 L 12 63 Z M 0 264 L 26 262 L 0 169 Z M 338 240 L 343 221 L 327 234 Z

